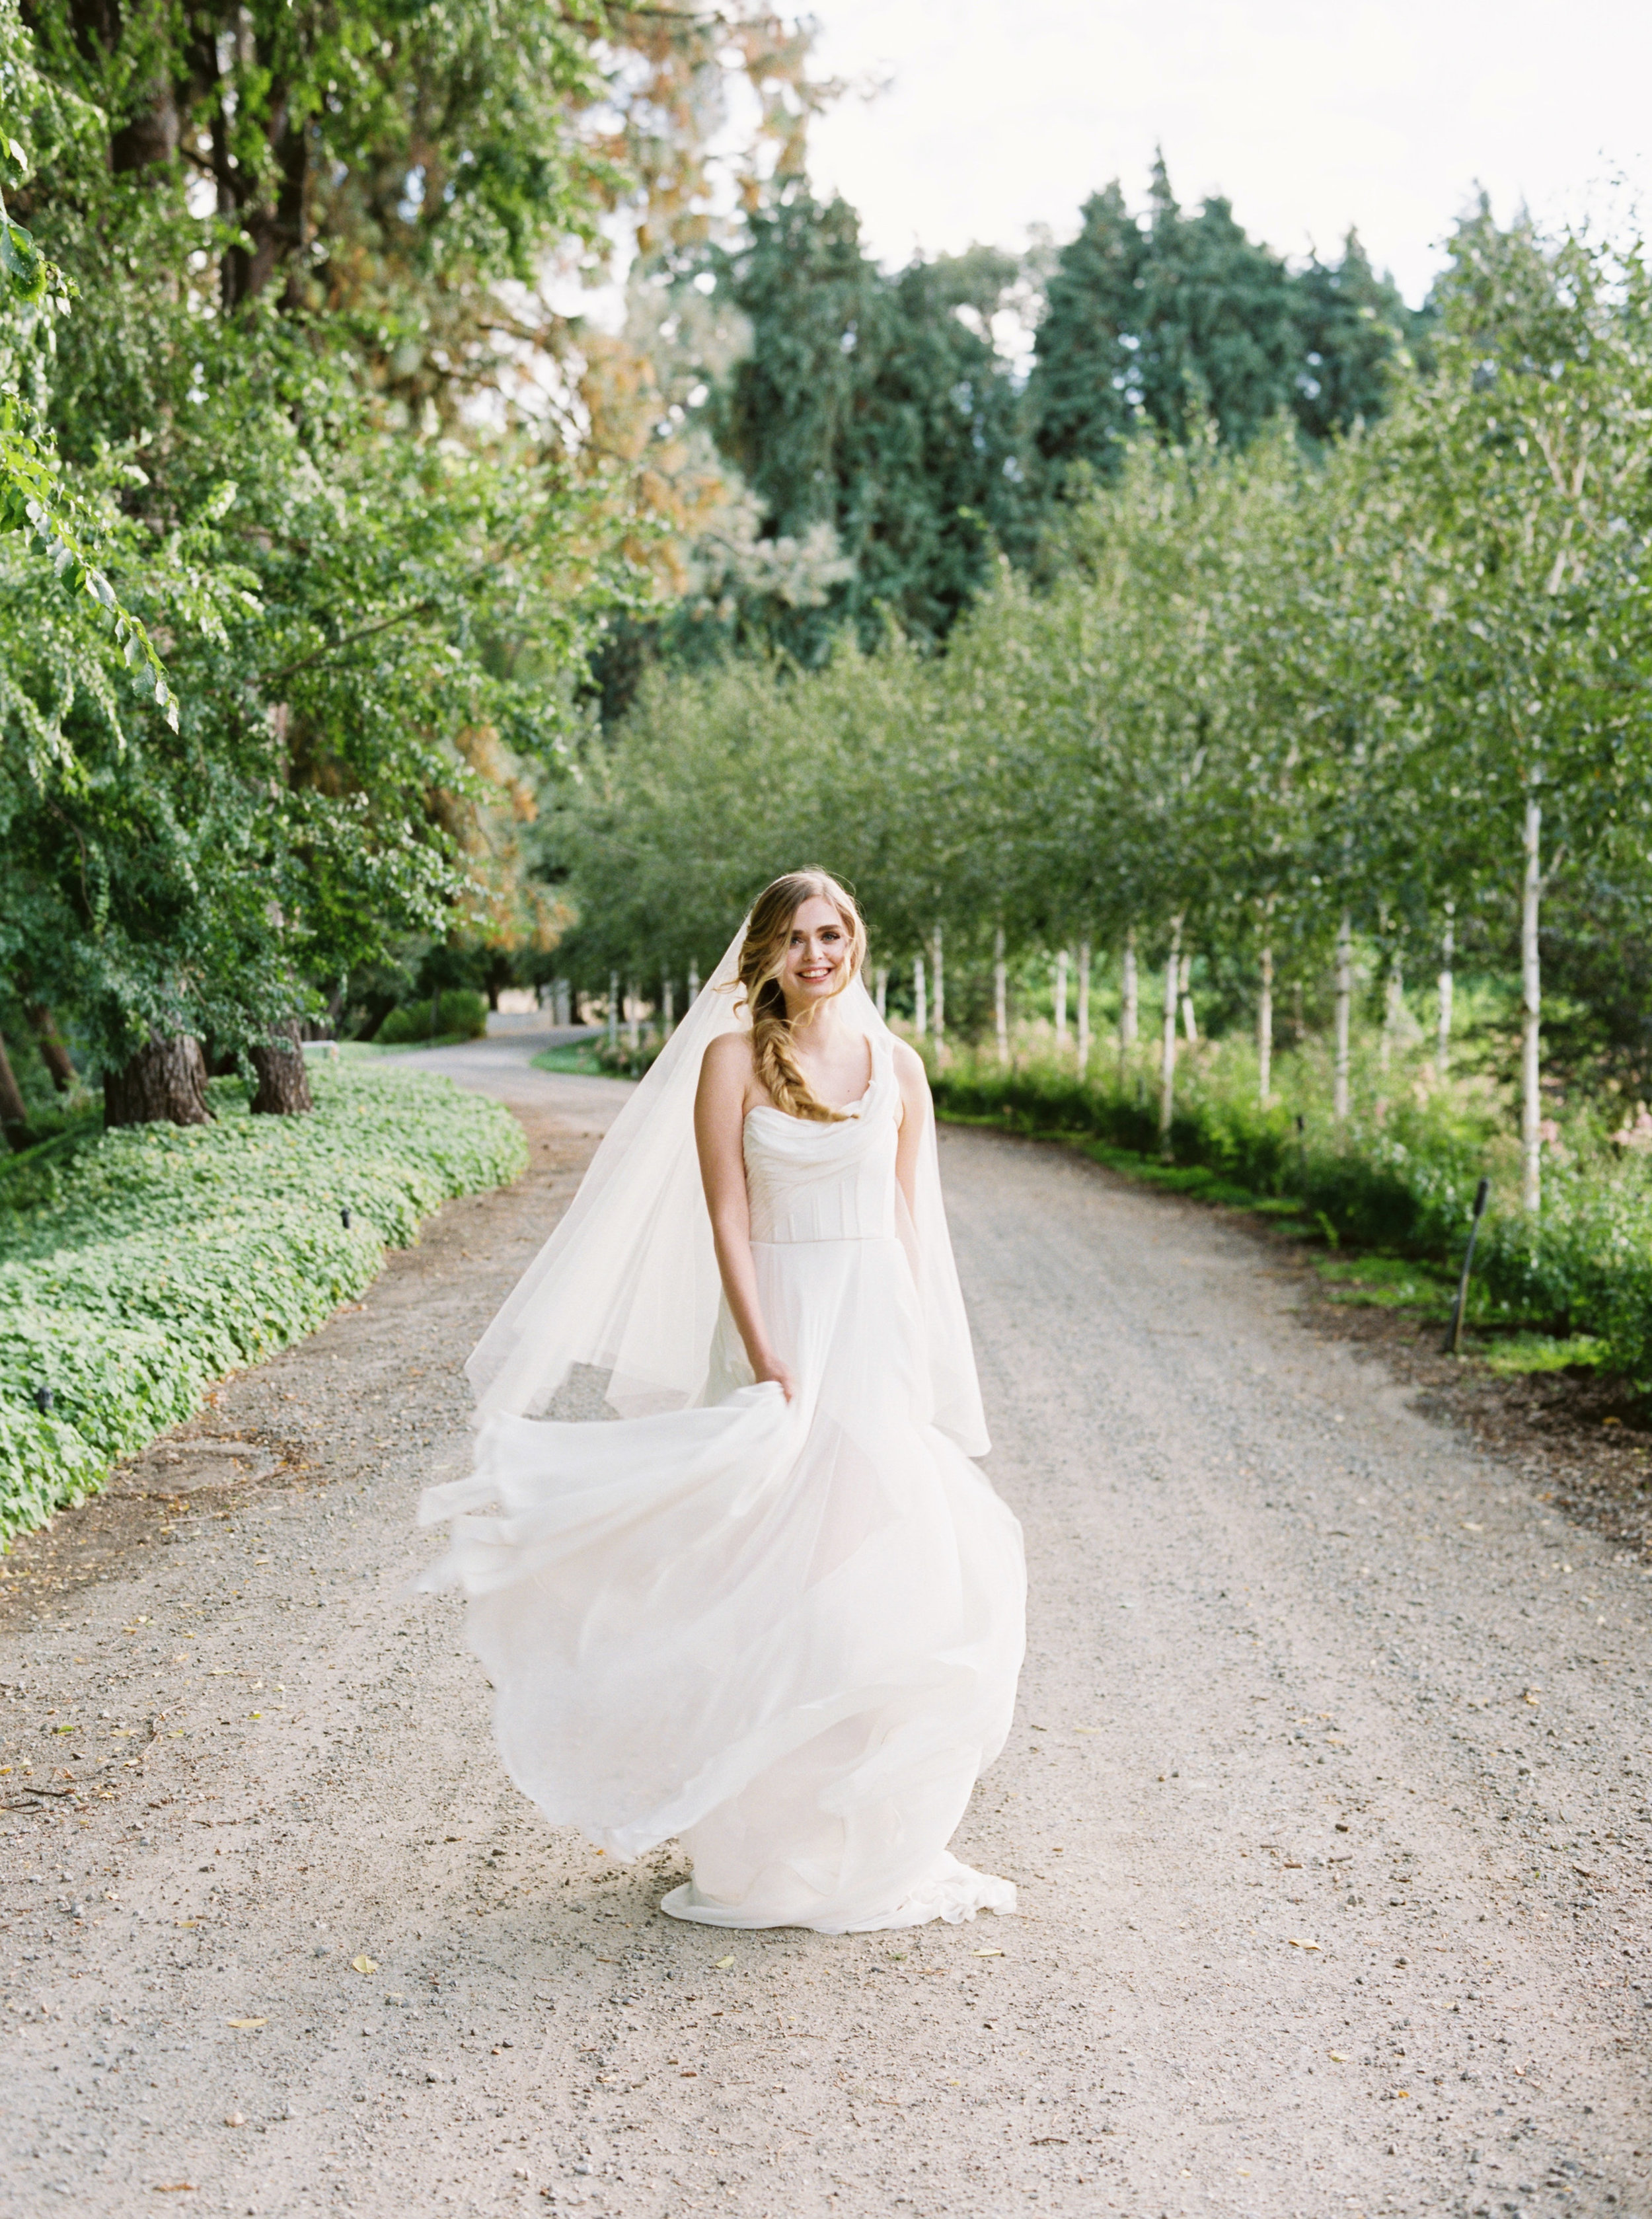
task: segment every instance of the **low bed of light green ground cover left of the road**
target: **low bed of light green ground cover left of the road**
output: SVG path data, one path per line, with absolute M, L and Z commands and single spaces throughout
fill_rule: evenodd
M 278 1118 L 215 1081 L 211 1125 L 0 1165 L 0 1536 L 315 1331 L 449 1196 L 526 1167 L 515 1118 L 444 1078 L 313 1063 L 311 1087 L 311 1116 Z

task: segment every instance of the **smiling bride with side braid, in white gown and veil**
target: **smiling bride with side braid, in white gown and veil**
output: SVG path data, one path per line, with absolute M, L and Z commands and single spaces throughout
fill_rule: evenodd
M 919 1056 L 866 928 L 790 872 L 604 1138 L 471 1358 L 475 1471 L 420 1582 L 471 1598 L 511 1777 L 662 1911 L 917 1926 L 1013 1911 L 948 1840 L 1004 1744 L 1021 1533 L 986 1451 Z M 620 1420 L 542 1416 L 573 1365 Z M 475 1516 L 500 1504 L 500 1516 Z

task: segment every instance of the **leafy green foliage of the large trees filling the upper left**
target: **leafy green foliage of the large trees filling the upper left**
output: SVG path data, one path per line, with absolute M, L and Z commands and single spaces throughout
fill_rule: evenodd
M 409 934 L 555 936 L 515 828 L 637 490 L 517 406 L 566 344 L 535 284 L 620 197 L 695 229 L 731 69 L 795 160 L 806 44 L 0 0 L 0 965 L 93 1076 L 266 1041 Z

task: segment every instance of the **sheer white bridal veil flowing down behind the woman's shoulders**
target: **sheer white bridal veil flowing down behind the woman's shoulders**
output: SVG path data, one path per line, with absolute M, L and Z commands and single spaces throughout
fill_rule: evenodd
M 611 1374 L 606 1398 L 624 1418 L 684 1409 L 702 1394 L 722 1283 L 695 1154 L 695 1090 L 711 1041 L 751 1025 L 735 1007 L 744 939 L 742 925 L 464 1367 L 480 1425 L 544 1416 L 575 1365 Z M 859 979 L 844 996 L 866 1034 L 886 1030 Z M 984 1456 L 933 1116 L 919 1138 L 915 1209 L 901 1203 L 899 1218 L 924 1311 L 935 1425 L 966 1456 Z

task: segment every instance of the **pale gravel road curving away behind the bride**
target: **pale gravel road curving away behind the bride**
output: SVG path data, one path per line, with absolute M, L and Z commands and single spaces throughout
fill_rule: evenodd
M 0 2210 L 1652 2212 L 1648 1580 L 1059 1147 L 944 1138 L 1032 1569 L 959 1848 L 1026 1915 L 708 1935 L 540 1824 L 402 1595 L 620 1098 L 522 1054 L 444 1058 L 522 1185 L 9 1564 L 0 1762 L 87 1802 L 0 1815 Z

